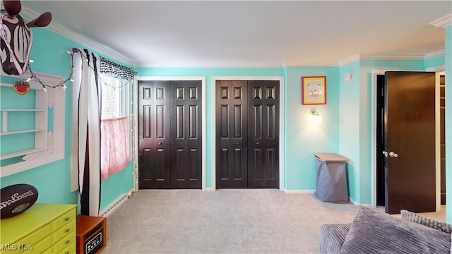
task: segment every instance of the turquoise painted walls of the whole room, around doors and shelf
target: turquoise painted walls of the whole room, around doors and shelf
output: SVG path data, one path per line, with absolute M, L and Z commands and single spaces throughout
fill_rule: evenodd
M 67 50 L 83 45 L 68 40 L 44 28 L 33 30 L 35 43 L 31 58 L 34 71 L 61 75 L 70 74 L 71 57 Z M 213 76 L 282 76 L 285 80 L 284 142 L 285 179 L 287 191 L 312 191 L 316 188 L 314 152 L 334 152 L 344 155 L 347 164 L 350 197 L 360 204 L 370 204 L 371 197 L 371 126 L 372 71 L 422 71 L 442 66 L 446 62 L 446 95 L 452 97 L 452 28 L 446 28 L 446 55 L 417 61 L 359 60 L 344 66 L 297 66 L 279 68 L 135 68 L 138 76 L 203 76 L 206 78 L 206 187 L 211 188 L 213 169 Z M 349 82 L 345 73 L 353 73 Z M 326 76 L 326 104 L 302 105 L 302 76 Z M 1 77 L 11 81 L 11 78 Z M 0 185 L 28 183 L 40 192 L 38 202 L 76 203 L 78 192 L 70 190 L 70 112 L 71 84 L 66 84 L 66 148 L 65 158 L 58 162 L 23 171 L 0 179 Z M 451 124 L 452 100 L 446 100 L 446 125 Z M 323 121 L 313 123 L 311 109 L 320 111 Z M 448 128 L 446 144 L 452 147 L 452 128 Z M 13 144 L 11 144 L 13 145 Z M 452 183 L 452 156 L 448 153 L 447 182 Z M 133 163 L 124 171 L 102 181 L 101 207 L 107 207 L 120 195 L 133 188 Z M 452 191 L 448 188 L 448 210 L 452 210 Z M 452 220 L 448 213 L 448 221 Z

